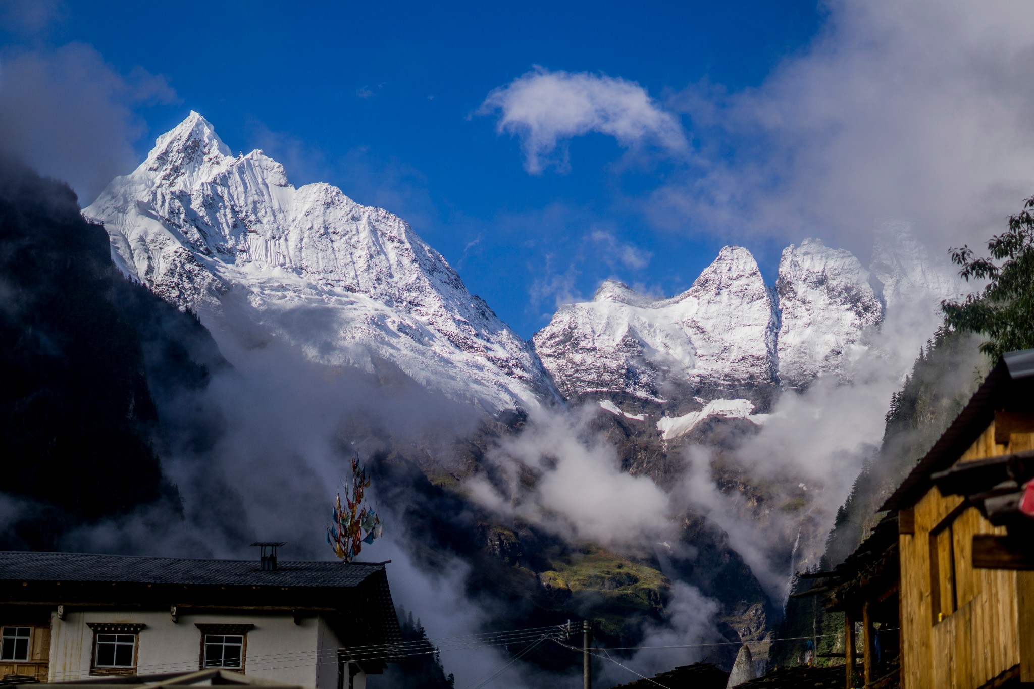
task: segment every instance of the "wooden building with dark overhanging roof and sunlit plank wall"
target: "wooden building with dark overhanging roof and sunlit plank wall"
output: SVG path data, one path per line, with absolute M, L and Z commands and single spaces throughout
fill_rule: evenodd
M 1029 450 L 1034 350 L 1003 357 L 884 503 L 873 536 L 822 575 L 827 607 L 847 616 L 848 674 L 861 622 L 863 669 L 847 686 L 1034 686 L 1034 571 L 1026 568 L 1034 520 L 1018 509 L 1034 477 Z M 895 626 L 896 638 L 883 638 L 881 629 Z M 882 676 L 881 641 L 900 667 Z

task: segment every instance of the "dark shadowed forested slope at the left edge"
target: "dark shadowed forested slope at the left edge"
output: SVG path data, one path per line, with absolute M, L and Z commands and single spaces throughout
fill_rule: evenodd
M 158 409 L 219 365 L 196 319 L 121 277 L 71 189 L 0 161 L 0 547 L 175 500 Z

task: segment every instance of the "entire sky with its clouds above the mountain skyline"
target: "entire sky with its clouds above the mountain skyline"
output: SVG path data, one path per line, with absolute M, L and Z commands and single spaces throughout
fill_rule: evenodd
M 196 109 L 295 184 L 408 220 L 523 337 L 607 277 L 686 289 L 727 243 L 769 282 L 804 237 L 864 261 L 887 215 L 943 254 L 1031 186 L 1023 2 L 300 7 L 2 0 L 0 124 L 53 145 L 22 148 L 85 205 L 84 167 L 127 171 Z M 548 80 L 586 86 L 604 120 L 536 134 L 556 93 L 516 87 Z M 624 129 L 622 89 L 641 96 Z

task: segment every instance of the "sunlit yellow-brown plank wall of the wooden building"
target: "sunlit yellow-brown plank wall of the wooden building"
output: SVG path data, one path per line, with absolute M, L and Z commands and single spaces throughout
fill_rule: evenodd
M 960 462 L 1034 448 L 1034 434 L 1012 434 L 1008 444 L 995 443 L 992 424 Z M 1029 572 L 973 569 L 970 566 L 973 534 L 1004 533 L 970 507 L 951 523 L 950 538 L 938 538 L 936 547 L 954 551 L 957 609 L 950 594 L 942 592 L 941 622 L 934 619 L 931 582 L 930 532 L 962 504 L 962 498 L 944 498 L 935 488 L 915 505 L 915 533 L 901 534 L 902 686 L 904 689 L 977 689 L 1021 661 L 1021 594 L 1034 598 L 1034 577 Z M 937 556 L 937 553 L 933 554 Z M 940 554 L 939 562 L 946 561 Z M 950 589 L 948 590 L 950 591 Z M 945 596 L 948 600 L 943 600 Z M 1024 613 L 1028 615 L 1027 612 Z M 1027 629 L 1027 635 L 1030 630 Z M 1023 639 L 1026 665 L 1030 646 Z M 1032 668 L 1034 669 L 1034 668 Z

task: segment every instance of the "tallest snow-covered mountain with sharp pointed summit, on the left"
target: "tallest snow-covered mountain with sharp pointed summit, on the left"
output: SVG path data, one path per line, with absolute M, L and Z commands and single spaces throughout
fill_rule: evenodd
M 490 412 L 558 399 L 528 344 L 405 221 L 329 184 L 295 188 L 262 151 L 233 156 L 197 113 L 84 215 L 125 274 L 217 339 L 276 336 L 327 365 L 388 363 Z

